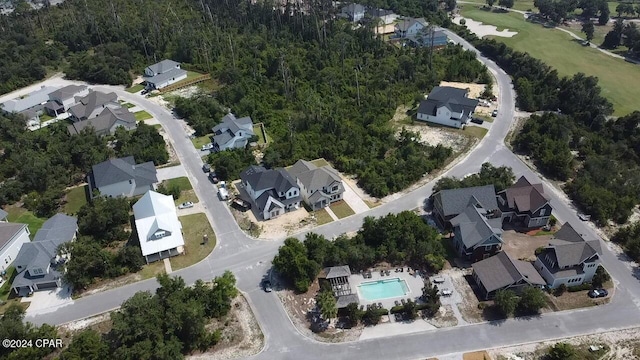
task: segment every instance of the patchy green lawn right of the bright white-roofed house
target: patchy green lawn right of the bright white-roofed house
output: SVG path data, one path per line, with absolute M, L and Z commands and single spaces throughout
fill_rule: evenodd
M 205 214 L 180 216 L 180 222 L 182 223 L 185 253 L 171 258 L 171 268 L 174 271 L 201 261 L 216 246 L 216 235 L 213 233 Z M 207 244 L 202 243 L 205 234 L 209 237 Z

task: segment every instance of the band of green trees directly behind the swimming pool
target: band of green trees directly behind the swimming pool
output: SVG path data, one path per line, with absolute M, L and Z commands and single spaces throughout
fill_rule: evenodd
M 439 271 L 445 255 L 438 231 L 415 213 L 403 211 L 366 217 L 353 238 L 342 235 L 328 240 L 315 233 L 304 242 L 288 238 L 273 266 L 296 291 L 306 292 L 322 267 L 349 264 L 351 270 L 364 270 L 387 262 Z

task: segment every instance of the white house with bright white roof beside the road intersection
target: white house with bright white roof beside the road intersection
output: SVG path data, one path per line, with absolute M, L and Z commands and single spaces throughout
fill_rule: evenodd
M 171 195 L 147 192 L 133 205 L 140 249 L 147 263 L 184 252 L 182 224 Z

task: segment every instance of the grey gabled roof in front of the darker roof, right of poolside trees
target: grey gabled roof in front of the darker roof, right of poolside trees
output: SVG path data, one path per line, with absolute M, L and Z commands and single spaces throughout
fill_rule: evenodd
M 488 220 L 483 214 L 486 211 L 482 208 L 469 204 L 464 212 L 451 219 L 453 227 L 459 227 L 462 242 L 471 249 L 492 235 L 502 234 L 500 219 Z

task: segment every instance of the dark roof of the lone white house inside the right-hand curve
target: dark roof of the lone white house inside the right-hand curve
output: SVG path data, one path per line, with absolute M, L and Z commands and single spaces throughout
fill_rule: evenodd
M 436 86 L 431 90 L 426 100 L 420 102 L 418 113 L 435 115 L 438 108 L 445 106 L 452 112 L 467 114 L 472 113 L 478 100 L 469 99 L 467 90 L 458 89 L 450 86 Z

